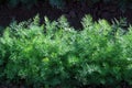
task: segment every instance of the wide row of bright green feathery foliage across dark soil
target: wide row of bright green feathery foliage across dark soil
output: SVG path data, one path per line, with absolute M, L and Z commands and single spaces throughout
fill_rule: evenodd
M 0 82 L 33 88 L 120 87 L 132 85 L 132 28 L 87 15 L 82 31 L 69 28 L 66 19 L 40 25 L 12 23 L 0 36 Z M 117 30 L 117 31 L 114 31 Z

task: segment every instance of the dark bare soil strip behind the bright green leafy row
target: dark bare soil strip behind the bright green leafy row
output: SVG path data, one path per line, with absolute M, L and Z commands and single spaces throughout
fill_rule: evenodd
M 132 10 L 127 10 L 125 13 L 122 13 L 117 4 L 112 3 L 99 2 L 92 7 L 88 7 L 87 3 L 72 2 L 64 10 L 59 10 L 51 7 L 48 3 L 38 2 L 31 9 L 26 9 L 25 7 L 9 8 L 8 6 L 1 6 L 0 25 L 7 26 L 12 20 L 16 20 L 18 22 L 25 21 L 35 16 L 37 13 L 41 16 L 41 21 L 43 21 L 45 15 L 51 20 L 56 20 L 62 14 L 65 14 L 70 25 L 76 29 L 81 28 L 80 21 L 85 14 L 91 14 L 95 20 L 103 18 L 108 21 L 111 21 L 113 18 L 119 19 L 120 16 L 125 16 L 129 22 L 132 22 Z

